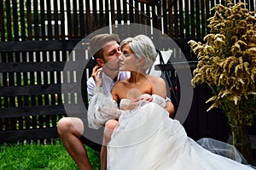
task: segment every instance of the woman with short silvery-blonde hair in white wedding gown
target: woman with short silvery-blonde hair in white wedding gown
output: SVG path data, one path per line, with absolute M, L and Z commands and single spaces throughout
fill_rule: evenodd
M 99 78 L 88 110 L 90 127 L 105 126 L 110 139 L 108 169 L 253 169 L 202 148 L 169 118 L 165 81 L 146 73 L 157 56 L 149 37 L 126 38 L 120 49 L 120 71 L 131 71 L 131 78 L 116 83 L 108 95 L 101 93 Z

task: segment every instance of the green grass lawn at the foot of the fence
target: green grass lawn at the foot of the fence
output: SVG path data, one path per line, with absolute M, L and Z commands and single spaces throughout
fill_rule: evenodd
M 92 167 L 100 169 L 99 153 L 87 146 L 86 148 Z M 1 170 L 79 169 L 60 141 L 55 144 L 1 145 L 0 162 Z

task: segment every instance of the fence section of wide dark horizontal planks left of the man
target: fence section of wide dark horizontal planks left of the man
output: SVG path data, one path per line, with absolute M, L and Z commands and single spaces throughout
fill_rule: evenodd
M 77 111 L 83 102 L 77 97 L 81 82 L 76 77 L 81 73 L 76 68 L 81 59 L 87 62 L 86 44 L 74 40 L 0 42 L 0 143 L 58 137 L 57 122 L 67 116 L 64 104 Z M 64 71 L 65 65 L 73 67 Z M 88 76 L 85 71 L 84 77 Z

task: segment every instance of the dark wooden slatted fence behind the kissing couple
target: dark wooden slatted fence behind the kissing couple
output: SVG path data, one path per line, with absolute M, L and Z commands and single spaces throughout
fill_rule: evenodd
M 255 10 L 254 0 L 244 2 Z M 210 9 L 217 3 L 224 1 L 163 0 L 153 7 L 133 0 L 0 1 L 0 143 L 58 137 L 57 122 L 67 116 L 65 101 L 71 107 L 81 103 L 77 87 L 83 72 L 63 69 L 67 59 L 80 62 L 71 55 L 75 47 L 73 52 L 89 61 L 87 42 L 80 48 L 77 44 L 93 31 L 123 23 L 154 26 L 172 37 L 188 60 L 195 60 L 187 42 L 207 34 Z M 89 76 L 85 71 L 84 77 Z M 66 82 L 73 84 L 69 92 L 61 91 Z M 193 139 L 226 140 L 229 128 L 224 115 L 218 110 L 206 113 L 210 95 L 205 86 L 195 88 L 184 127 Z

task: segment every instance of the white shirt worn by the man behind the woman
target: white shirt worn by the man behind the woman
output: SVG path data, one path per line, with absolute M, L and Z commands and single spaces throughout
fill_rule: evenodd
M 113 85 L 116 82 L 119 82 L 120 80 L 125 80 L 127 78 L 131 77 L 130 71 L 120 71 L 117 80 L 114 82 L 111 77 L 108 77 L 107 74 L 102 72 L 102 90 L 104 94 L 109 94 L 111 92 L 111 89 L 113 88 Z M 95 87 L 96 82 L 94 81 L 93 77 L 90 77 L 87 80 L 87 92 L 89 95 L 89 99 L 91 99 L 95 94 Z

